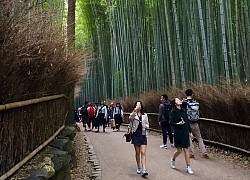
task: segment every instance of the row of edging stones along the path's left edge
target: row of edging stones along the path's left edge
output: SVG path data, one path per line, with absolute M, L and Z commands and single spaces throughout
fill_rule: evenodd
M 87 133 L 84 132 L 83 137 L 84 137 L 85 143 L 87 144 L 87 150 L 88 150 L 88 156 L 89 156 L 88 162 L 93 163 L 93 166 L 94 166 L 91 178 L 100 180 L 102 179 L 102 168 L 101 168 L 100 162 L 94 151 L 94 147 L 91 144 L 89 137 L 87 136 Z

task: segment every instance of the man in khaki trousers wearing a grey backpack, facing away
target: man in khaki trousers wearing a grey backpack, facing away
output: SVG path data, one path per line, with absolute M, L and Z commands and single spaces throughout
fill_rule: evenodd
M 200 119 L 200 112 L 199 112 L 199 103 L 192 98 L 193 91 L 192 89 L 187 89 L 185 91 L 187 96 L 186 100 L 183 102 L 183 106 L 186 108 L 188 119 L 190 121 L 191 132 L 193 136 L 197 139 L 199 143 L 200 150 L 204 158 L 209 158 L 207 154 L 206 147 L 204 145 L 203 139 L 201 137 L 200 128 L 199 128 L 199 119 Z M 190 158 L 194 158 L 194 150 L 193 150 L 193 143 L 190 138 Z

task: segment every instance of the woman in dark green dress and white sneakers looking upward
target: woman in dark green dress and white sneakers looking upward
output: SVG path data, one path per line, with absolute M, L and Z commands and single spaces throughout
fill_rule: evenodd
M 171 167 L 175 169 L 176 158 L 184 151 L 187 172 L 193 174 L 190 167 L 190 156 L 188 147 L 190 146 L 189 136 L 191 133 L 190 123 L 185 109 L 181 108 L 182 101 L 175 98 L 171 101 L 173 111 L 170 114 L 170 123 L 174 126 L 174 145 L 176 151 L 171 158 Z

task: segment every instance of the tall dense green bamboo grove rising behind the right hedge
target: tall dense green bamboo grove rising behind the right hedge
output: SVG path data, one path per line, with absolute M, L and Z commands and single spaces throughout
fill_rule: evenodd
M 250 1 L 79 2 L 79 9 L 88 9 L 86 38 L 94 39 L 89 47 L 95 52 L 80 101 L 185 87 L 190 81 L 249 83 Z

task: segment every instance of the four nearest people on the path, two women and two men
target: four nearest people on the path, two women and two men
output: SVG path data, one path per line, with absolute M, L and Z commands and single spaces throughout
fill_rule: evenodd
M 194 158 L 193 138 L 196 138 L 202 155 L 209 158 L 199 129 L 199 103 L 192 98 L 192 89 L 185 91 L 186 98 L 180 100 L 174 98 L 168 100 L 166 94 L 161 95 L 159 105 L 159 124 L 162 127 L 163 144 L 161 148 L 167 149 L 167 134 L 170 147 L 176 148 L 171 157 L 171 167 L 176 168 L 177 157 L 184 152 L 187 172 L 193 174 L 190 166 L 190 158 Z M 136 172 L 145 177 L 148 175 L 146 169 L 147 128 L 149 128 L 148 116 L 143 110 L 140 101 L 135 102 L 134 109 L 129 116 L 129 130 L 132 132 L 132 144 L 135 149 L 137 163 Z

